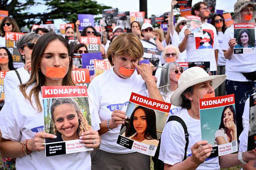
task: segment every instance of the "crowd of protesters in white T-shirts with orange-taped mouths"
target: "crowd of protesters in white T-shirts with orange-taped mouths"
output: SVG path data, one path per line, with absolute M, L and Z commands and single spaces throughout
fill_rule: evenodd
M 184 149 L 187 136 L 182 125 L 176 121 L 165 124 L 158 157 L 163 161 L 162 169 L 215 170 L 236 165 L 242 165 L 244 170 L 256 168 L 256 148 L 247 151 L 248 131 L 255 130 L 255 127 L 249 127 L 249 96 L 256 89 L 256 55 L 234 54 L 234 48 L 255 47 L 255 42 L 251 41 L 246 29 L 238 33 L 236 40 L 234 25 L 227 27 L 221 14 L 214 13 L 210 18 L 210 8 L 204 2 L 198 2 L 191 8 L 191 14 L 201 18 L 202 37 L 191 37 L 195 29 L 199 30 L 196 23 L 190 22 L 190 27 L 187 27 L 185 17 L 179 17 L 173 23 L 173 9 L 177 3 L 174 0 L 170 3 L 171 12 L 165 19 L 168 23 L 165 33 L 162 28 L 154 28 L 149 23 L 140 25 L 137 21 L 131 23 L 130 33 L 125 32 L 126 26 L 124 28 L 115 23 L 112 24 L 112 32 L 107 32 L 105 27 L 97 32 L 93 26 L 86 26 L 79 32 L 79 20 L 75 23 L 75 29 L 65 29 L 65 35 L 46 28 L 37 28 L 30 33 L 27 28 L 19 29 L 15 18 L 2 19 L 0 71 L 7 72 L 4 78 L 5 99 L 0 103 L 0 153 L 3 168 L 150 169 L 149 155 L 134 152 L 116 143 L 121 125 L 127 119 L 124 106 L 128 104 L 132 92 L 171 103 L 168 117 L 179 116 L 187 126 L 188 147 Z M 253 23 L 256 26 L 256 3 L 238 0 L 232 18 L 234 23 Z M 5 32 L 24 33 L 17 41 L 23 63 L 13 62 L 12 54 L 5 45 Z M 77 37 L 77 45 L 73 50 L 63 36 Z M 87 46 L 79 43 L 82 36 L 101 37 L 99 47 L 102 59 L 108 60 L 113 66 L 113 69 L 91 77 L 87 92 L 92 125 L 75 133 L 76 138 L 79 137 L 80 142 L 93 148 L 93 151 L 45 157 L 45 138 L 49 142 L 55 138 L 59 141 L 67 138 L 63 135 L 65 133 L 56 136 L 46 133 L 44 129 L 39 130 L 39 127 L 44 127 L 41 88 L 76 85 L 71 72 L 82 68 L 82 63 L 77 58 L 73 60 L 73 54 L 88 53 Z M 145 49 L 161 53 L 147 53 Z M 185 70 L 180 64 L 184 62 L 210 62 L 210 70 L 206 72 L 200 67 Z M 81 66 L 76 67 L 75 63 Z M 63 78 L 51 77 L 47 74 L 48 67 L 65 68 Z M 200 140 L 199 99 L 205 95 L 215 97 L 226 94 L 235 95 L 235 108 L 228 106 L 223 109 L 220 127 L 215 133 L 215 143 L 226 144 L 239 138 L 239 152 L 207 159 L 212 153 L 212 144 Z M 60 128 L 60 123 L 54 117 L 58 115 L 55 110 L 62 102 L 67 103 L 56 100 L 56 108 L 52 108 L 54 130 L 59 132 L 65 129 Z M 84 121 L 83 116 L 77 111 L 76 101 L 68 102 L 76 110 L 72 120 L 76 129 L 79 129 L 81 121 Z M 111 106 L 116 105 L 119 106 L 118 110 L 111 109 Z M 59 113 L 65 112 L 63 108 L 68 106 L 62 105 Z M 175 113 L 172 112 L 174 108 Z M 151 109 L 137 107 L 132 112 L 132 121 L 123 136 L 140 142 L 152 138 L 158 144 L 156 133 L 151 133 L 150 129 L 135 131 L 134 124 L 141 121 L 134 117 L 139 114 L 146 120 L 156 119 Z M 156 127 L 153 129 L 156 131 Z M 141 135 L 145 131 L 148 135 Z

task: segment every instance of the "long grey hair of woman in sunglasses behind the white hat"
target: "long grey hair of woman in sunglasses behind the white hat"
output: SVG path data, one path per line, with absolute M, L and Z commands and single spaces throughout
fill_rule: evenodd
M 160 84 L 159 84 L 160 88 L 158 90 L 159 90 L 159 92 L 163 92 L 164 95 L 167 95 L 169 92 L 172 92 L 171 89 L 170 89 L 170 85 L 168 85 L 168 84 L 171 84 L 171 82 L 170 82 L 170 71 L 175 69 L 177 66 L 180 67 L 180 64 L 176 63 L 176 62 L 165 63 L 163 65 L 163 67 L 167 68 L 167 70 L 162 69 L 162 71 L 161 71 Z M 161 87 L 161 86 L 163 86 L 163 87 Z

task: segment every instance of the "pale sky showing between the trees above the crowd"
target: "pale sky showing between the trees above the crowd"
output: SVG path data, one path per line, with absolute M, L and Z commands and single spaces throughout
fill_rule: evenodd
M 113 8 L 118 8 L 118 11 L 131 11 L 136 12 L 140 9 L 139 0 L 96 0 L 99 4 L 104 4 L 107 6 L 112 6 Z M 200 0 L 192 0 L 192 5 L 196 4 Z M 202 0 L 201 0 L 202 1 Z M 128 3 L 127 3 L 128 2 Z M 234 11 L 234 4 L 236 0 L 216 0 L 217 10 L 225 10 L 227 12 Z M 164 12 L 170 11 L 171 0 L 148 0 L 148 17 L 152 14 L 158 15 L 163 14 Z M 31 7 L 28 11 L 32 13 L 46 11 L 47 7 L 45 5 L 37 5 Z M 54 25 L 57 29 L 60 28 L 60 24 L 65 24 L 62 19 L 55 19 Z

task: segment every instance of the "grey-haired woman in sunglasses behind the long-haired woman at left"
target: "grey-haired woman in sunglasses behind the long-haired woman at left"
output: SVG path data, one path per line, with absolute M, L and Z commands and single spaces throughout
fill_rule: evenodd
M 15 71 L 9 71 L 4 78 L 4 93 L 5 101 L 11 96 L 13 91 L 22 83 L 26 83 L 30 77 L 29 71 L 31 70 L 31 53 L 36 44 L 36 41 L 41 36 L 36 33 L 27 33 L 20 37 L 17 43 L 22 61 L 25 63 L 23 67 Z

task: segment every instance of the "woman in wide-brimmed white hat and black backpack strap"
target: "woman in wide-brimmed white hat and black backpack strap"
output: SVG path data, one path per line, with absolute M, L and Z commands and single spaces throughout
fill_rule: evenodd
M 188 130 L 188 148 L 184 129 L 177 121 L 166 123 L 162 136 L 159 159 L 164 161 L 164 169 L 220 169 L 246 164 L 256 159 L 256 148 L 252 151 L 227 154 L 207 159 L 212 153 L 212 145 L 201 138 L 199 100 L 205 95 L 215 96 L 214 89 L 226 79 L 226 75 L 209 76 L 204 69 L 192 67 L 185 70 L 173 92 L 171 103 L 181 106 L 176 116 L 184 120 Z M 175 153 L 175 155 L 173 154 Z M 185 158 L 185 159 L 184 159 Z M 184 159 L 184 160 L 183 160 Z

